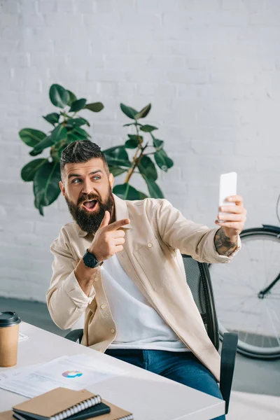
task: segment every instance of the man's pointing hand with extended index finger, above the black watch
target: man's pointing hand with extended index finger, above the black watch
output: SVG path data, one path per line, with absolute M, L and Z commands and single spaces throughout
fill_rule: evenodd
M 110 225 L 109 221 L 110 213 L 105 211 L 103 221 L 94 235 L 92 244 L 88 248 L 88 251 L 93 253 L 99 262 L 108 260 L 115 253 L 123 251 L 125 232 L 120 230 L 120 228 L 130 223 L 128 218 L 116 221 Z

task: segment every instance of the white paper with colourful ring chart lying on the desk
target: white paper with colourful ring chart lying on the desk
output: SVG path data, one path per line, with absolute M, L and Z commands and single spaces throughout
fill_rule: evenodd
M 17 372 L 18 371 L 18 372 Z M 109 377 L 124 374 L 125 370 L 78 354 L 62 356 L 48 363 L 10 371 L 6 379 L 0 377 L 0 388 L 36 397 L 58 386 L 79 390 Z

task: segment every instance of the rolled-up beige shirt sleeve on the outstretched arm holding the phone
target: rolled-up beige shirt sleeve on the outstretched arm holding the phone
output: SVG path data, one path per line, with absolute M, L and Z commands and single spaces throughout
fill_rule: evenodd
M 158 225 L 162 241 L 200 262 L 230 262 L 241 248 L 241 241 L 238 238 L 235 251 L 229 256 L 220 255 L 214 243 L 218 229 L 209 229 L 206 225 L 186 219 L 181 211 L 165 199 L 158 200 L 154 220 Z

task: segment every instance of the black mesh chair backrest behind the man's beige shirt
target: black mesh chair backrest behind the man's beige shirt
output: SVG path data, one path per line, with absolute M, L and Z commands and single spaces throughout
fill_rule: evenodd
M 193 298 L 202 316 L 207 334 L 218 350 L 218 319 L 208 265 L 205 262 L 194 260 L 190 255 L 182 254 L 182 258 L 186 281 L 193 293 Z

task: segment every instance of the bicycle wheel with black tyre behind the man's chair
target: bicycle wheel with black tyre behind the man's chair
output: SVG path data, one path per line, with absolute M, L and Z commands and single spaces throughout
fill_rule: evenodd
M 237 351 L 246 356 L 279 358 L 279 230 L 251 228 L 240 237 L 241 251 L 230 264 L 209 265 L 219 334 L 237 332 Z

